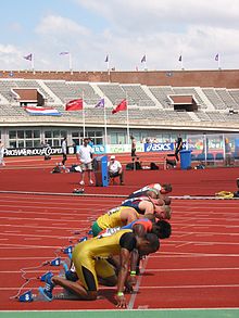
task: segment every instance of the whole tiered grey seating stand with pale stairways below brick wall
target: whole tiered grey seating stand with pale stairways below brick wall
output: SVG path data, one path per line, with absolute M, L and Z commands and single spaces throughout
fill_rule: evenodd
M 150 127 L 151 123 L 214 123 L 222 126 L 223 123 L 238 124 L 239 115 L 230 110 L 239 109 L 239 89 L 226 88 L 200 88 L 200 87 L 172 87 L 172 86 L 142 86 L 139 84 L 112 84 L 112 82 L 81 82 L 66 80 L 41 79 L 0 79 L 0 115 L 9 117 L 24 117 L 26 114 L 20 106 L 14 89 L 37 89 L 45 98 L 46 105 L 53 105 L 62 114 L 65 120 L 81 120 L 78 112 L 66 112 L 65 103 L 73 99 L 81 98 L 84 92 L 85 117 L 89 123 L 103 124 L 104 114 L 95 105 L 104 97 L 106 103 L 106 117 L 109 123 L 116 124 L 118 119 L 126 122 L 125 112 L 112 115 L 112 109 L 123 99 L 128 100 L 129 120 L 134 125 L 143 123 Z M 174 111 L 171 96 L 191 96 L 198 103 L 198 111 Z M 66 119 L 67 118 L 67 119 Z M 18 119 L 17 119 L 18 120 Z

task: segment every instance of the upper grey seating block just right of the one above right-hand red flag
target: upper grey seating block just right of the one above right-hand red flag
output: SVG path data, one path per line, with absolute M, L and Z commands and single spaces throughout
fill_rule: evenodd
M 155 106 L 155 103 L 147 96 L 140 85 L 122 85 L 122 88 L 133 104 L 142 107 Z

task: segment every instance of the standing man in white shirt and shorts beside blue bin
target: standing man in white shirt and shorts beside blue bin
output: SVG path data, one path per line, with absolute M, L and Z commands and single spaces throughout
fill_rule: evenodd
M 80 186 L 85 185 L 85 171 L 88 173 L 89 185 L 93 185 L 91 179 L 93 152 L 92 148 L 88 143 L 88 138 L 84 138 L 83 144 L 79 147 L 76 153 L 77 160 L 79 161 L 81 167 L 81 180 L 79 182 Z

